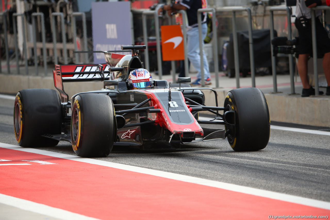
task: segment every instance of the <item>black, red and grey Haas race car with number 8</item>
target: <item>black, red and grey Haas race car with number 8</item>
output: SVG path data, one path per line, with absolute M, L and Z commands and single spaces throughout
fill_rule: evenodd
M 113 145 L 178 149 L 185 143 L 226 137 L 235 151 L 266 147 L 270 119 L 265 96 L 259 89 L 231 90 L 224 107 L 219 107 L 215 90 L 192 88 L 186 84 L 190 77 L 170 85 L 152 79 L 136 54 L 136 50 L 145 48 L 123 46 L 124 52 L 132 52 L 129 55 L 101 52 L 105 64 L 55 65 L 54 84 L 61 99 L 50 89 L 19 91 L 14 106 L 18 144 L 55 146 L 65 140 L 72 143 L 80 157 L 108 156 Z M 97 80 L 103 81 L 103 89 L 81 92 L 68 100 L 63 82 Z M 202 90 L 206 89 L 215 93 L 215 106 L 205 106 Z M 209 111 L 214 119 L 198 120 L 200 111 Z M 213 128 L 202 128 L 209 125 Z

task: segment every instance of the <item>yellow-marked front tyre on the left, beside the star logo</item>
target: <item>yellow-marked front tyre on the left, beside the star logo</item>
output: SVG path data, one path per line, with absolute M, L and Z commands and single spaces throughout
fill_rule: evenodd
M 79 157 L 106 157 L 116 138 L 116 116 L 105 94 L 78 95 L 72 105 L 71 141 Z

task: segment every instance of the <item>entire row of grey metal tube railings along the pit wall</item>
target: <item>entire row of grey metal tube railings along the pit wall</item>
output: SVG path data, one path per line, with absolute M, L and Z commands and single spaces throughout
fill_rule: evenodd
M 160 7 L 160 5 L 158 6 L 158 8 Z M 327 6 L 318 6 L 312 9 L 312 14 L 315 14 L 315 10 L 329 10 L 329 7 Z M 286 11 L 286 16 L 287 16 L 287 27 L 288 27 L 288 39 L 291 39 L 291 19 L 290 19 L 290 9 L 288 7 L 271 7 L 270 9 L 270 31 L 271 31 L 271 40 L 274 38 L 274 18 L 273 18 L 273 12 L 274 11 Z M 214 13 L 214 15 L 218 12 L 232 12 L 232 29 L 233 29 L 233 43 L 234 43 L 234 64 L 235 64 L 235 73 L 236 73 L 236 87 L 240 88 L 240 82 L 239 82 L 239 58 L 238 58 L 238 39 L 237 39 L 237 25 L 236 25 L 236 12 L 240 12 L 240 11 L 245 11 L 248 14 L 248 37 L 249 37 L 249 53 L 250 53 L 250 68 L 251 68 L 251 83 L 252 83 L 252 87 L 255 87 L 255 68 L 254 68 L 254 54 L 253 54 L 253 40 L 252 40 L 252 19 L 251 19 L 251 10 L 249 8 L 241 8 L 241 7 L 230 7 L 230 8 L 217 8 L 215 9 L 200 9 L 198 10 L 198 13 L 202 13 L 202 12 L 212 12 Z M 143 22 L 143 37 L 144 39 L 148 39 L 147 36 L 147 25 L 146 25 L 146 16 L 148 15 L 153 15 L 155 18 L 155 29 L 156 29 L 156 50 L 157 50 L 157 64 L 158 64 L 158 76 L 159 79 L 162 79 L 162 59 L 161 59 L 161 46 L 160 46 L 160 34 L 159 34 L 159 17 L 158 17 L 158 10 L 156 8 L 155 11 L 144 11 L 142 13 L 142 22 Z M 185 17 L 185 11 L 181 10 L 179 11 L 179 13 L 182 14 L 183 17 Z M 8 13 L 5 11 L 3 13 L 0 13 L 0 16 L 3 17 L 4 22 L 4 30 L 5 33 L 7 33 L 8 27 L 7 27 L 7 18 L 8 18 Z M 84 50 L 87 51 L 87 37 L 86 37 L 86 18 L 84 13 L 73 13 L 71 15 L 72 17 L 72 24 L 73 24 L 73 38 L 74 38 L 74 45 L 75 45 L 75 50 L 77 50 L 77 46 L 76 46 L 76 39 L 77 39 L 77 33 L 75 31 L 75 27 L 76 27 L 76 17 L 81 16 L 82 17 L 82 25 L 83 25 L 83 45 L 84 45 Z M 21 17 L 24 18 L 23 14 L 14 14 L 13 18 L 16 17 Z M 46 41 L 45 41 L 45 26 L 44 26 L 44 15 L 42 13 L 33 13 L 32 14 L 32 22 L 33 22 L 33 44 L 34 44 L 34 61 L 35 61 L 35 67 L 36 67 L 36 73 L 38 75 L 38 64 L 37 64 L 37 48 L 36 48 L 36 27 L 35 27 L 35 20 L 37 17 L 40 17 L 41 19 L 41 33 L 42 33 L 42 50 L 43 50 L 43 63 L 44 63 L 44 72 L 45 74 L 47 73 L 47 60 L 46 60 L 46 49 L 49 48 L 49 46 L 45 46 Z M 62 32 L 62 41 L 63 44 L 57 44 L 56 42 L 56 31 L 55 30 L 55 17 L 60 17 L 60 21 L 61 21 L 61 32 Z M 57 56 L 57 50 L 59 48 L 63 48 L 63 57 L 64 60 L 63 62 L 65 64 L 67 64 L 68 62 L 68 53 L 67 53 L 67 45 L 66 45 L 66 31 L 65 31 L 65 25 L 64 25 L 64 15 L 63 13 L 52 13 L 51 14 L 51 18 L 52 18 L 52 34 L 53 34 L 53 54 L 54 54 L 54 62 L 57 64 L 58 63 L 58 56 Z M 200 16 L 198 16 L 200 21 Z M 213 39 L 217 39 L 217 31 L 216 31 L 216 16 L 213 16 L 213 34 L 214 37 Z M 16 19 L 13 19 L 14 21 L 14 37 L 15 37 L 15 52 L 16 52 L 16 68 L 17 68 L 17 73 L 20 74 L 20 70 L 19 70 L 19 59 L 18 59 L 18 44 L 17 44 L 17 31 L 16 31 Z M 316 51 L 316 35 L 315 35 L 315 25 L 314 25 L 314 21 L 315 18 L 312 16 L 312 27 L 313 27 L 313 31 L 312 31 L 312 36 L 313 36 L 313 50 Z M 185 30 L 185 19 L 183 19 L 183 25 L 182 25 L 182 33 L 183 33 L 183 43 L 184 43 L 184 66 L 185 66 L 185 74 L 188 75 L 188 60 L 187 60 L 187 52 L 186 52 L 186 30 Z M 199 25 L 200 26 L 200 25 Z M 24 51 L 24 62 L 25 62 L 25 72 L 26 74 L 28 74 L 28 68 L 27 68 L 27 42 L 26 42 L 26 30 L 25 30 L 25 25 L 24 22 L 22 22 L 22 32 L 23 32 L 23 51 Z M 199 28 L 199 38 L 201 41 L 201 28 Z M 8 38 L 7 38 L 7 34 L 4 35 L 4 40 L 5 40 L 5 50 L 6 50 L 6 60 L 7 60 L 7 73 L 10 73 L 10 60 L 9 60 L 9 49 L 8 49 Z M 215 64 L 215 85 L 216 87 L 219 86 L 219 79 L 218 79 L 218 46 L 217 46 L 217 40 L 213 40 L 213 58 L 214 58 L 214 64 Z M 146 44 L 146 50 L 145 50 L 145 67 L 147 69 L 149 69 L 149 54 L 148 54 L 148 43 L 147 40 L 145 40 L 145 44 Z M 41 44 L 39 44 L 41 45 Z M 60 47 L 59 47 L 60 46 Z M 73 46 L 73 45 L 72 45 Z M 40 48 L 40 47 L 39 47 Z M 277 91 L 277 74 L 276 74 L 276 64 L 275 64 L 275 57 L 273 57 L 273 45 L 271 45 L 271 53 L 272 53 L 272 72 L 273 72 L 273 87 L 274 87 L 274 92 L 278 92 Z M 314 51 L 313 51 L 314 52 Z M 1 57 L 0 57 L 1 58 Z M 78 57 L 76 54 L 76 62 L 78 61 Z M 293 57 L 292 55 L 289 55 L 289 71 L 290 71 L 290 85 L 291 85 L 291 94 L 295 94 L 294 91 L 294 75 L 293 75 Z M 317 65 L 315 65 L 316 63 L 316 57 L 313 57 L 313 61 L 314 61 L 314 72 L 317 72 Z M 88 62 L 88 57 L 87 57 L 87 53 L 85 54 L 84 57 L 84 62 Z M 203 64 L 203 60 L 201 59 L 201 64 Z M 172 64 L 172 69 L 173 69 L 173 64 Z M 0 72 L 2 71 L 2 67 L 0 65 Z M 203 68 L 201 69 L 202 73 L 201 75 L 204 75 L 204 70 Z M 173 81 L 175 81 L 175 71 L 173 70 Z M 317 78 L 317 74 L 314 74 L 315 77 L 315 93 L 318 94 L 318 78 Z M 202 77 L 202 85 L 205 85 L 204 82 L 204 77 Z

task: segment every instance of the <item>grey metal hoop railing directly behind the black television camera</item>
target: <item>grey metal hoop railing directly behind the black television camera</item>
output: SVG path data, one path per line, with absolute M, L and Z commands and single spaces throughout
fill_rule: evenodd
M 289 7 L 271 7 L 270 11 L 270 39 L 274 39 L 274 11 L 286 11 L 287 27 L 288 27 L 288 40 L 291 40 L 291 10 Z M 273 73 L 273 92 L 278 93 L 277 91 L 277 78 L 276 78 L 276 59 L 273 55 L 273 45 L 271 44 L 271 53 L 272 53 L 272 73 Z M 294 75 L 293 75 L 293 56 L 289 54 L 289 73 L 290 73 L 290 87 L 291 94 L 294 92 Z

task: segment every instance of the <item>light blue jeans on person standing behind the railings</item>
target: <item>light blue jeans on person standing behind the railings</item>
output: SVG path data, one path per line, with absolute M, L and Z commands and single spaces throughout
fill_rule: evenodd
M 204 45 L 204 38 L 206 37 L 207 24 L 202 24 L 202 38 Z M 197 79 L 201 79 L 201 58 L 199 55 L 199 37 L 198 27 L 193 27 L 187 31 L 187 53 L 188 59 L 192 63 L 193 67 L 197 70 Z M 205 51 L 203 49 L 203 61 L 204 61 L 204 79 L 210 77 L 209 63 L 206 58 Z

